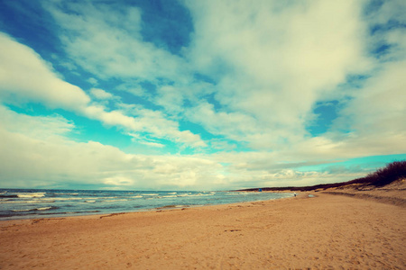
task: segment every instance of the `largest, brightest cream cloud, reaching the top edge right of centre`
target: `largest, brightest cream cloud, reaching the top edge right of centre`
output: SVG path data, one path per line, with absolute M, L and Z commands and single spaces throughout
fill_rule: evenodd
M 346 75 L 370 68 L 361 2 L 187 4 L 195 23 L 189 58 L 217 78 L 219 103 L 264 129 L 246 138 L 253 147 L 278 148 L 283 140 L 303 138 L 313 104 L 337 95 L 333 91 Z M 219 124 L 220 114 L 213 118 Z M 235 129 L 247 124 L 253 121 L 240 121 Z M 258 144 L 260 138 L 267 142 Z

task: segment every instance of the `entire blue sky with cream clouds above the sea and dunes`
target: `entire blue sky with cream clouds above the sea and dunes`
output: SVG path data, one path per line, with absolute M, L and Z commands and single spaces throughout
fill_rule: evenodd
M 405 14 L 0 0 L 0 188 L 303 186 L 406 159 Z

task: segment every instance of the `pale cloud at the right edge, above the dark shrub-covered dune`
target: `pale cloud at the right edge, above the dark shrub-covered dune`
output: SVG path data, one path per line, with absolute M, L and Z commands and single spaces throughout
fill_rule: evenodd
M 359 136 L 374 133 L 406 135 L 406 61 L 387 63 L 367 80 L 343 112 Z M 341 123 L 343 125 L 345 123 Z

